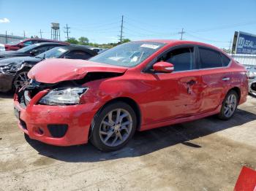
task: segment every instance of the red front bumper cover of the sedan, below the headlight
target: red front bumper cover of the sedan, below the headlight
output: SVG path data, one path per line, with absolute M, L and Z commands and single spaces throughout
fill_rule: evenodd
M 14 107 L 18 111 L 18 127 L 31 139 L 57 146 L 71 146 L 86 144 L 89 139 L 89 128 L 94 114 L 97 112 L 96 104 L 80 104 L 75 106 L 46 106 L 37 102 L 47 90 L 37 93 L 31 98 L 29 104 L 24 106 L 15 94 Z M 16 117 L 17 117 L 16 116 Z M 49 125 L 66 126 L 64 136 L 54 137 Z M 55 126 L 54 126 L 55 125 Z

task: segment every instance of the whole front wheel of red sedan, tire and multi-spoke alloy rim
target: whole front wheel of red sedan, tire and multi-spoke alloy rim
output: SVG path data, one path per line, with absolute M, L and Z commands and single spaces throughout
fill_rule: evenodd
M 91 124 L 91 143 L 108 152 L 124 147 L 135 133 L 137 119 L 131 106 L 116 101 L 104 106 Z

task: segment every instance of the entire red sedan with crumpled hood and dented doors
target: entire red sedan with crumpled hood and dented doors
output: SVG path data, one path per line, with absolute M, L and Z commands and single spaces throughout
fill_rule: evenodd
M 31 139 L 111 151 L 135 130 L 217 114 L 228 120 L 246 101 L 246 69 L 208 44 L 147 40 L 89 61 L 48 59 L 15 95 L 18 126 Z

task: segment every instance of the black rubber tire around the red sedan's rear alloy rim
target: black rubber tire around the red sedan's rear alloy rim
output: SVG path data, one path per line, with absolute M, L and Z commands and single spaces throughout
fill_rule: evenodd
M 227 99 L 230 98 L 230 95 L 233 95 L 236 97 L 236 106 L 233 106 L 233 112 L 230 115 L 227 115 L 225 113 L 225 107 L 227 106 Z M 220 120 L 229 120 L 231 117 L 233 117 L 233 114 L 236 112 L 237 106 L 238 106 L 238 94 L 235 90 L 230 90 L 227 95 L 225 96 L 225 99 L 222 102 L 222 109 L 220 110 L 218 117 Z

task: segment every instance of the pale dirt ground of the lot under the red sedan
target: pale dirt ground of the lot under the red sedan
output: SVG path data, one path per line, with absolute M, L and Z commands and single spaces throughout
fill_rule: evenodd
M 136 133 L 118 152 L 25 139 L 0 95 L 0 190 L 233 190 L 256 168 L 256 98 L 230 121 L 207 117 Z

